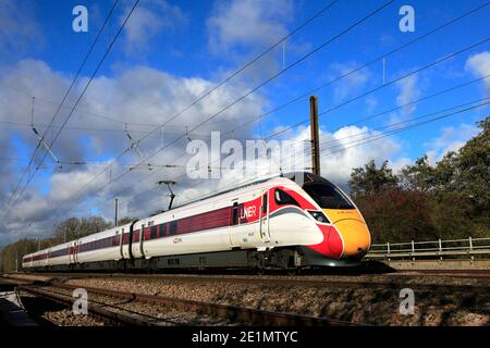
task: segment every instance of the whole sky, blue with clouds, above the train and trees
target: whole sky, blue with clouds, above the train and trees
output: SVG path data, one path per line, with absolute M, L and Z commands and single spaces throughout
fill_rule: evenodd
M 170 139 L 185 132 L 185 127 L 197 124 L 219 110 L 220 105 L 267 80 L 283 66 L 287 67 L 387 2 L 377 0 L 336 2 L 287 39 L 284 49 L 280 46 L 220 88 L 213 98 L 206 98 L 197 108 L 176 120 L 173 123 L 175 127 L 172 130 L 173 135 L 169 130 L 169 135 L 164 138 Z M 137 124 L 158 125 L 164 122 L 170 114 L 182 110 L 195 97 L 275 44 L 328 3 L 328 1 L 292 0 L 270 2 L 142 0 L 68 124 L 79 129 L 63 130 L 60 140 L 53 146 L 53 152 L 63 161 L 111 160 L 128 145 L 122 132 L 124 122 L 130 123 L 136 137 L 140 135 L 138 132 L 148 132 L 150 126 Z M 242 119 L 247 120 L 267 113 L 485 3 L 486 1 L 481 0 L 394 1 L 268 83 L 233 110 L 225 112 L 222 115 L 225 122 L 221 122 L 221 119 L 213 120 L 195 133 L 226 130 L 230 126 L 240 124 Z M 72 21 L 75 17 L 72 10 L 78 4 L 88 9 L 88 33 L 75 33 L 72 29 Z M 112 4 L 112 1 L 2 1 L 0 91 L 3 97 L 0 97 L 2 122 L 0 145 L 4 149 L 4 157 L 25 160 L 32 156 L 37 142 L 26 126 L 30 122 L 30 98 L 26 95 L 36 97 L 35 123 L 41 128 L 56 111 L 56 104 L 49 101 L 59 102 L 62 99 Z M 87 77 L 90 76 L 132 4 L 133 1 L 130 0 L 119 1 L 101 39 L 70 95 L 68 104 L 72 105 L 75 97 L 81 94 Z M 402 18 L 399 10 L 406 4 L 415 10 L 414 33 L 402 33 L 399 28 Z M 487 39 L 490 34 L 489 10 L 490 7 L 482 8 L 433 35 L 388 55 L 384 83 L 389 86 L 321 115 L 322 137 L 326 140 L 329 138 L 339 140 L 362 132 L 376 134 L 379 127 L 488 97 L 490 78 L 417 103 L 412 108 L 357 123 L 360 119 L 490 74 L 490 44 L 487 41 L 451 60 L 390 85 L 391 80 Z M 383 85 L 383 64 L 382 61 L 378 61 L 316 91 L 319 97 L 319 111 L 321 113 L 334 108 L 381 85 Z M 308 108 L 306 98 L 270 114 L 260 124 L 253 123 L 250 127 L 237 134 L 243 137 L 267 137 L 278 129 L 307 120 Z M 60 120 L 68 114 L 66 109 L 63 110 Z M 90 116 L 84 113 L 85 111 L 95 113 L 98 117 Z M 348 179 L 353 166 L 362 165 L 369 159 L 390 160 L 395 171 L 425 153 L 428 153 L 434 162 L 445 151 L 456 150 L 465 140 L 477 134 L 475 122 L 487 114 L 488 108 L 464 112 L 382 138 L 375 141 L 376 145 L 373 142 L 351 152 L 345 151 L 333 158 L 322 159 L 322 173 L 342 185 Z M 108 121 L 100 116 L 117 121 Z M 24 125 L 13 125 L 9 122 Z M 348 126 L 351 124 L 354 125 Z M 90 127 L 106 130 L 96 133 L 85 129 Z M 114 129 L 121 134 L 115 136 Z M 298 127 L 286 132 L 283 137 L 305 139 L 306 135 L 307 129 Z M 142 145 L 142 148 L 144 152 L 150 151 L 157 145 L 161 145 L 160 138 Z M 177 142 L 159 160 L 166 161 L 172 156 L 175 157 L 182 148 L 185 148 L 185 144 Z M 121 163 L 133 163 L 136 159 L 138 157 L 133 153 Z M 35 162 L 39 160 L 40 158 Z M 1 199 L 2 204 L 7 204 L 26 162 L 5 161 L 1 164 L 3 177 L 7 178 L 0 187 Z M 10 232 L 26 221 L 37 226 L 34 228 L 36 234 L 48 234 L 46 226 L 52 226 L 68 214 L 103 212 L 105 208 L 110 212 L 114 195 L 123 196 L 131 201 L 139 190 L 135 188 L 134 182 L 131 184 L 127 179 L 125 186 L 114 185 L 103 190 L 93 187 L 91 191 L 89 189 L 73 200 L 76 203 L 72 202 L 69 206 L 64 202 L 70 200 L 70 195 L 76 192 L 79 186 L 101 167 L 94 165 L 60 170 L 52 164 L 47 158 L 45 165 L 48 167 L 41 169 L 34 176 L 23 196 L 17 199 L 14 212 L 9 212 L 10 217 L 0 226 L 0 234 L 3 236 L 0 240 L 16 238 Z M 144 182 L 137 176 L 133 177 L 133 181 L 139 182 L 140 187 L 145 188 L 155 185 L 155 181 Z M 196 183 L 189 184 L 188 187 L 182 184 L 182 191 L 189 190 L 188 195 L 182 192 L 182 196 L 192 197 L 193 194 L 199 192 L 198 187 Z M 131 208 L 131 204 L 134 206 L 134 203 L 126 206 Z M 50 208 L 53 206 L 63 209 L 57 208 L 57 211 L 52 212 Z M 145 214 L 157 206 L 150 203 L 133 212 L 128 211 L 127 214 Z M 15 211 L 27 213 L 21 214 Z M 110 213 L 107 215 L 110 216 Z

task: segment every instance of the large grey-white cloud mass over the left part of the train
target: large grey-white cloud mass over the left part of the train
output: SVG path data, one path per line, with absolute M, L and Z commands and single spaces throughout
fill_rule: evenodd
M 81 83 L 76 85 L 73 96 L 81 92 L 86 77 L 82 78 Z M 30 99 L 5 87 L 7 85 L 15 86 L 38 97 L 35 103 L 34 121 L 36 127 L 42 132 L 45 129 L 42 125 L 49 123 L 57 109 L 57 104 L 46 100 L 60 100 L 60 96 L 64 94 L 69 83 L 70 76 L 51 70 L 41 61 L 25 60 L 19 62 L 11 66 L 3 76 L 0 76 L 0 121 L 15 121 L 26 124 L 30 122 Z M 73 113 L 66 128 L 57 140 L 53 152 L 62 161 L 83 160 L 102 162 L 101 164 L 108 163 L 115 154 L 121 153 L 131 145 L 124 134 L 124 122 L 130 123 L 132 136 L 139 139 L 155 126 L 138 124 L 158 125 L 163 123 L 212 86 L 215 84 L 210 80 L 180 77 L 144 66 L 121 71 L 117 77 L 96 77 L 79 104 L 79 111 Z M 226 84 L 220 87 L 203 102 L 169 122 L 163 127 L 163 135 L 157 132 L 154 136 L 142 141 L 139 148 L 145 156 L 155 153 L 162 144 L 169 145 L 183 135 L 186 126 L 191 128 L 219 112 L 224 105 L 241 97 L 245 90 L 245 86 L 241 84 Z M 73 103 L 73 98 L 70 99 L 71 101 L 68 104 Z M 262 97 L 250 96 L 226 112 L 221 113 L 216 120 L 206 123 L 195 132 L 191 132 L 191 137 L 208 140 L 206 136 L 211 130 L 234 128 L 244 123 L 244 121 L 241 121 L 243 117 L 260 114 L 265 104 L 266 100 Z M 62 120 L 66 117 L 69 110 L 68 108 L 61 110 L 54 122 L 56 126 L 60 125 Z M 119 122 L 95 116 L 85 113 L 85 111 L 109 116 Z M 71 127 L 81 127 L 85 130 L 70 129 Z M 249 137 L 249 134 L 250 128 L 244 127 L 236 130 L 234 137 Z M 10 129 L 9 133 L 0 132 L 2 149 L 10 148 L 13 151 L 16 148 L 12 142 L 13 137 L 17 138 L 17 144 L 22 141 L 30 149 L 21 151 L 16 156 L 22 158 L 30 156 L 37 139 L 29 127 Z M 52 133 L 50 132 L 47 137 L 48 141 L 51 138 Z M 185 164 L 186 157 L 182 153 L 185 151 L 186 141 L 181 139 L 168 146 L 150 160 L 151 163 L 154 165 L 167 164 L 176 159 L 172 164 Z M 14 157 L 15 153 L 9 153 L 9 156 Z M 40 158 L 36 162 L 39 160 Z M 119 161 L 118 165 L 112 167 L 112 179 L 139 161 L 140 158 L 137 152 L 130 151 Z M 51 175 L 50 171 L 54 166 L 52 161 L 47 158 L 45 164 L 51 165 L 51 169 L 47 173 L 40 170 L 36 181 L 28 186 L 19 203 L 0 222 L 0 241 L 10 240 L 17 233 L 15 226 L 22 226 L 26 223 L 32 223 L 28 229 L 30 234 L 49 236 L 52 225 L 57 221 L 72 215 L 86 215 L 93 208 L 99 208 L 101 214 L 111 219 L 114 196 L 121 199 L 121 215 L 127 213 L 132 216 L 145 216 L 151 211 L 166 207 L 168 201 L 167 191 L 159 191 L 156 182 L 173 178 L 184 173 L 182 166 L 177 169 L 157 166 L 159 170 L 152 172 L 137 169 L 112 185 L 100 189 L 101 183 L 107 184 L 109 182 L 109 172 L 106 172 L 88 185 L 79 197 L 73 197 L 88 182 L 88 178 L 100 173 L 105 165 L 63 165 L 62 170 L 57 170 Z M 2 174 L 0 209 L 5 209 L 7 198 L 16 181 L 19 181 L 21 169 L 17 163 L 0 167 L 0 174 Z M 151 173 L 155 174 L 147 177 Z M 194 183 L 189 183 L 189 179 L 184 176 L 179 179 L 175 190 L 179 195 L 183 195 L 192 185 Z M 206 185 L 204 189 L 210 187 L 210 185 Z M 148 189 L 152 189 L 148 196 L 138 197 Z M 200 191 L 203 191 L 203 188 L 200 188 Z M 151 199 L 148 199 L 148 197 L 151 197 Z

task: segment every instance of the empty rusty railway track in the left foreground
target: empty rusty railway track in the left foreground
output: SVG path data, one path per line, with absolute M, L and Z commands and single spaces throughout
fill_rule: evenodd
M 74 290 L 77 286 L 68 284 L 49 284 L 50 289 L 39 288 L 39 285 L 20 285 L 19 289 L 40 296 L 50 300 L 72 304 L 74 299 L 66 293 L 57 291 Z M 327 318 L 318 318 L 313 315 L 302 315 L 293 313 L 264 311 L 254 308 L 246 308 L 240 306 L 221 304 L 204 301 L 194 301 L 180 298 L 161 297 L 152 295 L 144 295 L 136 293 L 110 290 L 103 288 L 84 287 L 89 295 L 97 295 L 109 298 L 117 298 L 123 300 L 123 303 L 140 302 L 155 306 L 171 307 L 183 312 L 194 312 L 198 314 L 206 314 L 215 318 L 225 319 L 233 323 L 244 323 L 252 325 L 268 325 L 268 326 L 353 326 L 358 325 L 347 321 L 329 320 Z M 90 296 L 89 296 L 90 297 Z M 89 301 L 88 309 L 90 312 L 100 316 L 110 319 L 122 324 L 144 325 L 144 326 L 159 326 L 162 324 L 179 325 L 174 321 L 162 320 L 142 312 L 128 311 L 121 309 L 119 306 L 101 301 Z M 163 322 L 163 323 L 162 323 Z

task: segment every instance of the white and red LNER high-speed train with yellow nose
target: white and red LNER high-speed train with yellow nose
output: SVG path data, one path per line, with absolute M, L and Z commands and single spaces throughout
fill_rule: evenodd
M 299 183 L 299 184 L 298 184 Z M 292 173 L 26 254 L 26 271 L 298 269 L 358 264 L 369 229 L 354 202 Z

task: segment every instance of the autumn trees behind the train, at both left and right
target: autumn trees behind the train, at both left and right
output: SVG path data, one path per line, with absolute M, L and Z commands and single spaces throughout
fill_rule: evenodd
M 372 243 L 490 236 L 490 116 L 458 151 L 431 165 L 427 156 L 394 174 L 384 161 L 369 161 L 351 174 L 351 196 Z M 124 217 L 119 224 L 134 219 Z M 22 257 L 111 227 L 100 216 L 70 217 L 52 237 L 21 239 L 0 251 L 0 272 L 21 269 Z

